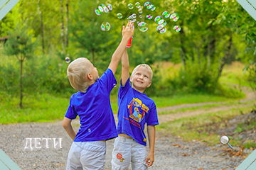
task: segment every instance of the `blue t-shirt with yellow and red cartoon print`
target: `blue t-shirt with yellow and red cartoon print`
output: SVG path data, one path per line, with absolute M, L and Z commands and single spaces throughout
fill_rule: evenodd
M 118 91 L 118 125 L 117 133 L 125 133 L 136 142 L 146 146 L 146 125 L 158 125 L 156 104 L 154 101 L 135 89 L 132 89 L 129 79 Z

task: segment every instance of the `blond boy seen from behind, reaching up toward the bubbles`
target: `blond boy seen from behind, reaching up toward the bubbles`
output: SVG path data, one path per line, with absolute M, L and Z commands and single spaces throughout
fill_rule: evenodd
M 108 69 L 99 77 L 97 69 L 84 57 L 68 66 L 68 79 L 78 93 L 70 97 L 70 105 L 63 119 L 63 128 L 74 141 L 68 153 L 66 169 L 104 169 L 106 140 L 117 137 L 117 129 L 110 106 L 110 91 L 117 84 L 114 73 L 134 32 L 129 22 L 122 29 L 122 41 L 112 55 Z M 71 121 L 80 118 L 77 134 Z

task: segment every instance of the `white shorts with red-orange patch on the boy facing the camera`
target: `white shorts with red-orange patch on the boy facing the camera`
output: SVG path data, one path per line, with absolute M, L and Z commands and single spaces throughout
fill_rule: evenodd
M 117 137 L 114 140 L 112 152 L 112 170 L 128 169 L 132 162 L 132 169 L 147 169 L 146 146 L 127 137 Z

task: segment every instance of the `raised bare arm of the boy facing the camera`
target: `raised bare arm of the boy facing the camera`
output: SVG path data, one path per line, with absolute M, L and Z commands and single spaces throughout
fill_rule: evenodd
M 126 49 L 124 50 L 124 53 L 122 55 L 122 78 L 121 78 L 122 86 L 124 86 L 128 78 L 129 78 L 129 57 Z

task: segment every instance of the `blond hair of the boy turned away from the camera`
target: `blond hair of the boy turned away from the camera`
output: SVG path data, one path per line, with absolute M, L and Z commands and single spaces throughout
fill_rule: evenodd
M 92 64 L 87 58 L 80 57 L 68 65 L 67 74 L 71 86 L 74 89 L 85 93 L 90 81 L 87 74 L 92 70 Z

